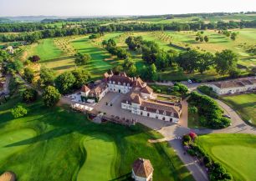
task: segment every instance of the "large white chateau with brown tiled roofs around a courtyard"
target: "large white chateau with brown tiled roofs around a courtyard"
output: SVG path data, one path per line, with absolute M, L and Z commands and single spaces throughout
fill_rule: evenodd
M 120 108 L 141 116 L 178 123 L 182 114 L 181 98 L 159 100 L 157 94 L 141 78 L 130 78 L 125 73 L 105 73 L 94 85 L 83 86 L 81 99 L 89 103 L 100 101 L 108 92 L 124 93 Z

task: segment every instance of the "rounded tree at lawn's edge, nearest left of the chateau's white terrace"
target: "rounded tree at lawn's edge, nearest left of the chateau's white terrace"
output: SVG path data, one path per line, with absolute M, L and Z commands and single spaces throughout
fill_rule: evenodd
M 60 93 L 57 88 L 54 88 L 54 86 L 48 86 L 44 89 L 43 100 L 45 106 L 52 107 L 58 103 L 59 99 Z

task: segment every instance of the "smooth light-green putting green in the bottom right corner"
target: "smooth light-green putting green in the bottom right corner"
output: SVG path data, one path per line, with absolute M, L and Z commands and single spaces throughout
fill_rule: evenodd
M 253 180 L 255 178 L 253 169 L 256 163 L 256 148 L 221 145 L 212 147 L 211 152 L 214 157 L 233 169 L 233 172 L 242 178 L 241 180 Z

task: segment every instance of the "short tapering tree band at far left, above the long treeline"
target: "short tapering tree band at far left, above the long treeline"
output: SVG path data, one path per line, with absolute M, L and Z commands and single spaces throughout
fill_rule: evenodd
M 44 29 L 54 29 L 54 27 L 43 23 L 2 23 L 0 33 L 34 32 Z

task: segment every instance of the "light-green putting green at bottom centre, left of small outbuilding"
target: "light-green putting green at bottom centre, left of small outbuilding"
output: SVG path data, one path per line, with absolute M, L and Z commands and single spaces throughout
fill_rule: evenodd
M 95 134 L 86 136 L 82 144 L 86 158 L 77 180 L 104 181 L 115 178 L 115 142 L 105 134 Z

